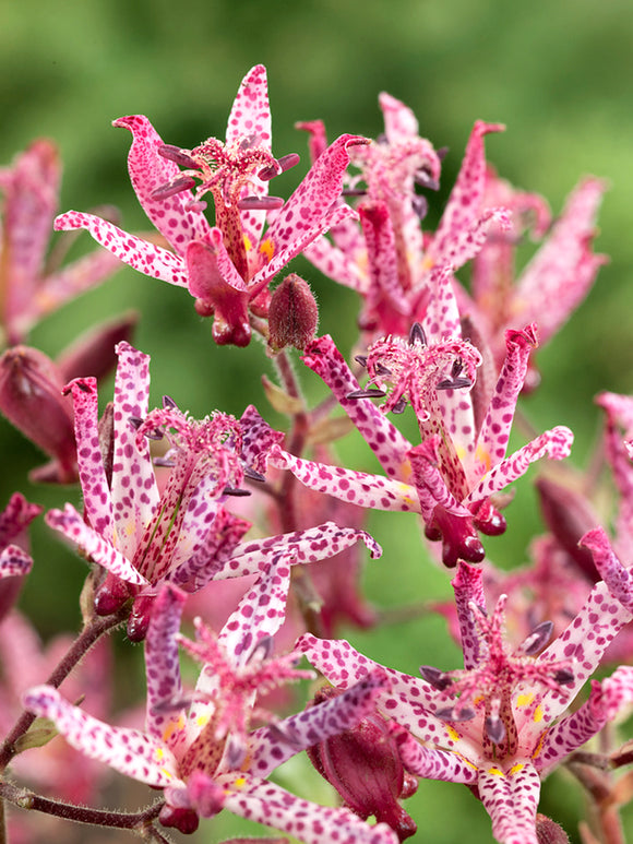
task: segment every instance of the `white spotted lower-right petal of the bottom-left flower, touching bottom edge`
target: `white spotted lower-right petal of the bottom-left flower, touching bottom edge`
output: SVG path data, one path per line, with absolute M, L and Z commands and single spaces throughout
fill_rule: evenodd
M 225 808 L 249 820 L 284 830 L 306 844 L 398 844 L 384 823 L 370 827 L 348 809 L 332 809 L 296 797 L 265 780 L 240 774 L 218 778 L 227 795 Z

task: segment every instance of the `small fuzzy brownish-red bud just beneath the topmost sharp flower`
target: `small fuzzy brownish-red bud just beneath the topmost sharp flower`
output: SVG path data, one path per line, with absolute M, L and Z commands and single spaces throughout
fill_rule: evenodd
M 268 308 L 268 345 L 274 352 L 286 346 L 304 349 L 316 334 L 319 308 L 310 285 L 296 273 L 275 289 Z

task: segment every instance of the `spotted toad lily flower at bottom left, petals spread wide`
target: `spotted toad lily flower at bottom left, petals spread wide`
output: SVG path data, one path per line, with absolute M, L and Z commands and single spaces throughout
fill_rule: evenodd
M 289 581 L 288 556 L 273 555 L 217 640 L 198 622 L 198 642 L 186 644 L 203 662 L 191 701 L 183 698 L 178 665 L 177 631 L 186 595 L 164 587 L 146 640 L 144 733 L 104 724 L 46 686 L 32 689 L 25 705 L 51 718 L 87 756 L 163 788 L 166 805 L 159 819 L 182 832 L 193 832 L 200 817 L 224 808 L 307 844 L 396 844 L 385 824 L 369 827 L 346 809 L 310 804 L 265 778 L 306 747 L 358 723 L 385 682 L 377 671 L 332 701 L 249 732 L 258 686 L 270 689 L 303 674 L 290 668 L 292 656 L 267 656 L 271 637 L 284 619 Z

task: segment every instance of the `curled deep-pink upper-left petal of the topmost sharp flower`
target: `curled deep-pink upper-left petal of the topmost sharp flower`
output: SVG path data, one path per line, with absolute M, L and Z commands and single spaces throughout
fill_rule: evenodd
M 187 210 L 187 204 L 193 200 L 191 191 L 181 191 L 164 200 L 156 200 L 152 195 L 157 188 L 179 176 L 178 165 L 158 154 L 163 140 L 143 115 L 120 117 L 112 126 L 132 132 L 128 169 L 139 202 L 158 231 L 179 254 L 184 254 L 187 243 L 205 237 L 210 229 L 200 212 Z

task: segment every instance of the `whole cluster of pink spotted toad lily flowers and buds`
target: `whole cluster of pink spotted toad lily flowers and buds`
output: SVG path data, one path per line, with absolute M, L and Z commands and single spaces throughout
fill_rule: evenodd
M 406 105 L 379 102 L 384 134 L 373 141 L 329 144 L 321 121 L 298 124 L 311 166 L 288 199 L 268 187 L 299 156 L 273 154 L 261 66 L 244 76 L 223 140 L 184 148 L 144 116 L 119 118 L 132 134 L 132 187 L 157 234 L 69 211 L 55 228 L 86 229 L 105 251 L 61 271 L 43 269 L 59 178 L 52 145 L 36 142 L 0 174 L 0 411 L 51 457 L 32 477 L 79 484 L 81 499 L 69 491 L 44 522 L 88 567 L 83 628 L 51 665 L 14 609 L 41 508 L 11 498 L 0 514 L 0 799 L 156 842 L 168 840 L 160 827 L 193 834 L 226 810 L 307 844 L 396 844 L 421 822 L 401 801 L 440 780 L 471 790 L 501 844 L 542 844 L 566 840 L 538 812 L 542 780 L 564 764 L 593 801 L 584 841 L 621 841 L 613 807 L 631 786 L 611 770 L 633 760 L 614 723 L 633 704 L 633 399 L 597 400 L 618 494 L 611 538 L 600 490 L 565 468 L 572 431 L 553 425 L 523 444 L 513 431 L 522 394 L 538 387 L 534 350 L 604 262 L 592 249 L 604 183 L 584 179 L 552 224 L 542 198 L 487 163 L 483 139 L 503 127 L 477 121 L 427 230 L 445 151 L 419 135 Z M 544 243 L 515 277 L 526 231 Z M 318 336 L 308 282 L 290 273 L 270 289 L 300 253 L 359 295 L 350 360 L 339 350 L 348 338 Z M 55 362 L 21 345 L 121 261 L 184 287 L 195 313 L 213 318 L 217 346 L 264 340 L 278 376 L 264 379 L 265 392 L 287 431 L 250 402 L 239 417 L 205 408 L 196 418 L 169 395 L 153 406 L 150 355 L 131 344 L 130 318 Z M 466 265 L 468 282 L 456 276 Z M 114 401 L 99 407 L 98 378 L 114 365 Z M 300 389 L 312 373 L 327 390 L 315 406 Z M 398 427 L 407 416 L 414 436 Z M 380 473 L 341 464 L 334 442 L 351 430 Z M 547 533 L 529 566 L 502 573 L 490 537 L 519 518 L 516 506 L 502 511 L 533 464 Z M 463 665 L 413 676 L 335 638 L 342 621 L 383 618 L 360 582 L 365 557 L 382 554 L 365 530 L 368 510 L 420 521 L 420 598 L 434 558 L 453 571 L 452 596 L 425 611 L 446 619 Z M 398 560 L 377 564 L 399 576 Z M 110 724 L 109 686 L 86 694 L 118 670 L 101 638 L 123 623 L 142 643 L 146 693 L 142 715 Z M 193 681 L 181 654 L 199 665 Z M 297 794 L 279 784 L 277 769 L 304 750 L 342 805 L 307 799 L 301 782 Z M 98 799 L 98 763 L 158 799 L 128 813 L 82 805 Z M 4 774 L 10 764 L 28 785 Z M 85 788 L 56 777 L 56 765 L 75 765 Z

